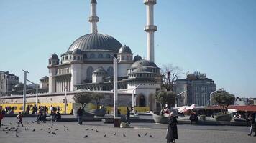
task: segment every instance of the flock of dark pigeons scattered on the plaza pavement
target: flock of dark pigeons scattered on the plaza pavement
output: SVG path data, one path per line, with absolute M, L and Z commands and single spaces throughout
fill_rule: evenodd
M 37 122 L 31 121 L 31 123 L 34 124 L 34 123 L 37 123 Z M 40 130 L 40 131 L 46 131 L 48 134 L 57 135 L 56 132 L 57 132 L 59 129 L 58 129 L 58 128 L 55 128 L 54 125 L 52 124 L 52 122 L 49 122 L 49 123 L 51 124 L 51 126 L 48 127 L 47 129 L 43 129 L 43 128 L 35 129 L 35 128 L 33 128 L 33 129 L 30 129 L 30 130 L 32 130 L 32 132 L 36 132 L 36 131 L 38 131 L 38 130 Z M 30 124 L 30 122 L 27 122 L 27 125 L 28 125 L 28 124 Z M 37 123 L 37 124 L 39 124 L 39 123 Z M 3 125 L 3 124 L 2 124 L 2 125 Z M 7 125 L 7 126 L 9 126 L 9 127 L 5 127 L 4 129 L 1 129 L 1 131 L 5 132 L 6 134 L 14 133 L 16 137 L 20 137 L 20 136 L 19 136 L 19 133 L 22 132 L 23 129 L 24 129 L 25 131 L 29 131 L 29 128 L 28 128 L 28 127 L 19 128 L 19 127 L 14 126 L 12 122 L 9 122 L 9 125 Z M 2 127 L 3 127 L 3 126 L 2 126 Z M 68 127 L 66 127 L 65 125 L 63 125 L 63 127 L 64 127 L 64 129 L 63 129 L 64 132 L 68 132 L 68 131 L 69 131 Z M 90 128 L 87 128 L 86 131 L 95 131 L 95 132 L 99 132 L 99 130 L 94 129 L 94 128 L 91 128 L 91 129 L 90 129 Z M 116 132 L 114 132 L 113 135 L 116 136 L 116 135 L 117 135 Z M 140 135 L 140 134 L 137 134 L 137 135 L 138 135 L 138 137 L 142 137 L 142 135 Z M 146 136 L 147 136 L 147 133 L 144 134 L 144 137 L 146 137 Z M 103 137 L 106 137 L 106 134 L 104 134 Z M 127 137 L 127 135 L 123 133 L 123 134 L 122 134 L 122 137 Z M 153 138 L 152 135 L 150 135 L 149 137 L 150 137 L 150 138 Z M 83 138 L 88 138 L 88 134 L 86 134 Z

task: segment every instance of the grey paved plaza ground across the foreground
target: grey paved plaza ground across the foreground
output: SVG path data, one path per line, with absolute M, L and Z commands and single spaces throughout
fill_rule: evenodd
M 14 117 L 4 118 L 2 122 L 4 126 L 0 129 L 0 142 L 166 142 L 167 125 L 165 124 L 132 123 L 131 128 L 114 128 L 113 124 L 102 122 L 84 122 L 85 125 L 82 126 L 78 126 L 77 122 L 55 122 L 51 125 L 49 122 L 32 123 L 33 119 L 35 118 L 24 118 L 24 127 L 18 127 L 18 133 L 16 133 L 16 119 Z M 15 129 L 9 131 L 5 129 L 6 127 L 15 127 Z M 256 137 L 248 137 L 247 131 L 247 127 L 179 124 L 177 142 L 255 143 Z M 16 137 L 16 134 L 19 137 Z M 138 134 L 141 137 L 138 137 Z

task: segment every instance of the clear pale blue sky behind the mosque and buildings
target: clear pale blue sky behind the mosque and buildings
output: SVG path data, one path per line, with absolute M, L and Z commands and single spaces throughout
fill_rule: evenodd
M 47 75 L 50 54 L 88 34 L 90 0 L 1 0 L 0 71 Z M 99 32 L 146 57 L 142 0 L 98 0 Z M 157 0 L 155 62 L 200 71 L 239 97 L 256 97 L 255 0 Z

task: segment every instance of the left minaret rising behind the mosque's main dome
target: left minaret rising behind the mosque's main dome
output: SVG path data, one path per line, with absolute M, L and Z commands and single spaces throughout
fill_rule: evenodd
M 97 16 L 97 0 L 91 0 L 91 16 L 88 21 L 91 22 L 91 33 L 96 32 L 97 22 L 99 22 L 99 17 Z

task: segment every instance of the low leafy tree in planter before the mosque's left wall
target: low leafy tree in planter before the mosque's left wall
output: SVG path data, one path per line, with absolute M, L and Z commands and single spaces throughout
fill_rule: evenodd
M 73 100 L 76 103 L 81 103 L 82 107 L 86 107 L 86 104 L 90 103 L 92 100 L 91 93 L 77 93 L 74 95 Z

